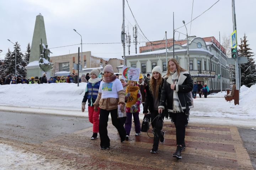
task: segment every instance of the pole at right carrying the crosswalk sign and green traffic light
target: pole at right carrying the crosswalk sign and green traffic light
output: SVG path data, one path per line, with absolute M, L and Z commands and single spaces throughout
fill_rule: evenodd
M 236 30 L 236 16 L 235 16 L 235 0 L 232 0 L 232 16 L 233 16 L 233 31 Z M 237 31 L 236 31 L 237 34 Z M 236 38 L 237 44 L 237 38 Z M 239 70 L 238 70 L 238 53 L 236 51 L 236 58 L 235 58 L 235 79 L 236 79 L 236 90 L 239 90 Z M 239 92 L 240 96 L 240 92 Z M 240 98 L 240 97 L 239 97 Z

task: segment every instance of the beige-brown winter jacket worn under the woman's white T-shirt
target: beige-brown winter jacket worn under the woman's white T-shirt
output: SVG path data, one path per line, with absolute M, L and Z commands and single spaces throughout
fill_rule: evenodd
M 101 109 L 105 109 L 107 111 L 117 109 L 118 104 L 125 104 L 125 96 L 124 91 L 120 90 L 117 92 L 118 98 L 101 98 L 101 93 L 98 93 L 97 99 L 95 103 L 93 103 L 94 106 L 100 107 Z

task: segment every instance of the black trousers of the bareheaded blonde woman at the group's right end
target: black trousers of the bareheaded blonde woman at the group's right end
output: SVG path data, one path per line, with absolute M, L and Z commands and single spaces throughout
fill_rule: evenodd
M 187 115 L 185 112 L 171 113 L 176 128 L 177 145 L 185 145 L 185 124 L 187 123 Z

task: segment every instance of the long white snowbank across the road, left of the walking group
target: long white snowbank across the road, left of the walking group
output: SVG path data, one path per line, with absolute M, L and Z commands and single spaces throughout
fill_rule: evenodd
M 80 108 L 87 83 L 11 84 L 0 86 L 1 104 Z

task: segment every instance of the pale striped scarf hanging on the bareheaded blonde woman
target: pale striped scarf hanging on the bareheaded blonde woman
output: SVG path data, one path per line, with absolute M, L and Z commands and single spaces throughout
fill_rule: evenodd
M 175 70 L 174 72 L 171 73 L 171 84 L 178 84 L 178 72 Z M 182 112 L 180 101 L 178 99 L 178 94 L 174 90 L 173 94 L 173 112 L 174 113 L 179 113 Z

